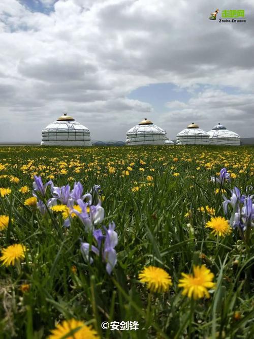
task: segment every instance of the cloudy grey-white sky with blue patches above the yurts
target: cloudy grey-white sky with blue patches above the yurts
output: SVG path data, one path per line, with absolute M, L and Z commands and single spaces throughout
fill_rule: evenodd
M 0 142 L 40 142 L 63 112 L 92 140 L 143 118 L 254 137 L 253 19 L 253 0 L 1 0 Z

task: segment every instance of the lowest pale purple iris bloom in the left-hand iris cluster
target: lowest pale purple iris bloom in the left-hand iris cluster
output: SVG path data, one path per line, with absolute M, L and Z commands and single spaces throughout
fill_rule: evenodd
M 99 256 L 102 248 L 102 241 L 105 239 L 102 249 L 102 259 L 106 262 L 107 273 L 111 274 L 117 263 L 115 246 L 118 243 L 118 236 L 115 232 L 115 223 L 110 223 L 108 229 L 104 226 L 104 230 L 106 232 L 106 236 L 103 235 L 102 230 L 100 229 L 93 231 L 93 237 L 96 239 L 98 247 L 90 245 L 88 242 L 81 242 L 81 252 L 84 254 L 86 261 L 88 261 L 89 258 L 89 251 L 92 251 Z M 89 262 L 92 263 L 93 259 L 89 258 Z

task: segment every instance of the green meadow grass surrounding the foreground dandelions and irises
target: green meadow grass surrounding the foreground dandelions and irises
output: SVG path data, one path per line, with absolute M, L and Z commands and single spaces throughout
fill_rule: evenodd
M 0 214 L 10 216 L 0 246 L 22 243 L 29 249 L 20 269 L 0 266 L 0 338 L 46 338 L 56 322 L 70 318 L 92 324 L 103 338 L 253 337 L 253 232 L 249 246 L 238 230 L 217 238 L 205 228 L 209 213 L 199 210 L 208 205 L 225 216 L 210 177 L 227 167 L 234 178 L 225 195 L 234 186 L 244 191 L 253 185 L 253 155 L 254 147 L 0 148 L 0 187 L 12 190 L 0 198 Z M 133 170 L 123 175 L 131 163 Z M 81 181 L 85 192 L 100 184 L 103 224 L 114 221 L 118 233 L 111 275 L 100 257 L 91 265 L 84 261 L 80 238 L 89 242 L 91 236 L 77 218 L 66 229 L 60 213 L 43 217 L 23 204 L 34 174 L 44 182 L 54 176 L 55 186 Z M 20 181 L 10 182 L 10 175 Z M 22 194 L 25 185 L 30 192 Z M 209 299 L 192 302 L 177 286 L 193 264 L 205 264 L 215 275 Z M 165 269 L 173 282 L 168 292 L 151 295 L 150 310 L 149 291 L 138 280 L 149 265 Z M 22 284 L 29 284 L 28 292 L 22 293 Z M 138 321 L 139 330 L 106 331 L 103 321 Z

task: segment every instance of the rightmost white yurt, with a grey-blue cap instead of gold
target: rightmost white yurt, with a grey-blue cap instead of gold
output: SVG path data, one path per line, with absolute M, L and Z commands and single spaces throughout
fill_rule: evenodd
M 220 122 L 207 133 L 209 134 L 211 145 L 239 146 L 241 144 L 240 136 L 235 132 L 227 130 Z

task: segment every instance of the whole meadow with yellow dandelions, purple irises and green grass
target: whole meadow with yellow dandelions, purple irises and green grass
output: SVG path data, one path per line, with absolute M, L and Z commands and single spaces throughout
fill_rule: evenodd
M 0 148 L 0 338 L 254 337 L 253 155 Z

